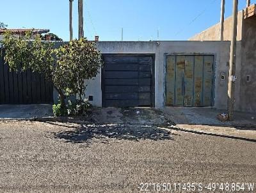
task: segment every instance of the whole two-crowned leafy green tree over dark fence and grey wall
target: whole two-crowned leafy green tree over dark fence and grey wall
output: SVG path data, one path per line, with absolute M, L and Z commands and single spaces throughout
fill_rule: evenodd
M 61 108 L 66 106 L 66 96 L 79 95 L 81 100 L 86 88 L 84 79 L 95 77 L 102 66 L 95 43 L 82 38 L 56 49 L 54 43 L 42 41 L 39 35 L 31 39 L 32 33 L 24 37 L 13 36 L 10 32 L 4 35 L 4 59 L 10 70 L 29 68 L 42 73 L 58 91 Z

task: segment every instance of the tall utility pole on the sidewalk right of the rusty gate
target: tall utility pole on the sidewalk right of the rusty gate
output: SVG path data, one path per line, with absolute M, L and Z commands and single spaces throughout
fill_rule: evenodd
M 232 15 L 232 39 L 230 46 L 230 61 L 229 61 L 229 79 L 228 79 L 228 120 L 234 119 L 234 104 L 235 104 L 235 82 L 236 82 L 236 36 L 237 36 L 237 4 L 238 0 L 233 0 L 233 15 Z

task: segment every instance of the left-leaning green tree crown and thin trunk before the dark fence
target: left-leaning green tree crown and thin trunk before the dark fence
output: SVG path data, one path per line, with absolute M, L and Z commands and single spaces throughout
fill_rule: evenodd
M 29 68 L 33 72 L 42 73 L 47 81 L 53 82 L 56 59 L 54 58 L 54 44 L 43 42 L 40 36 L 31 41 L 32 32 L 26 33 L 25 36 L 13 36 L 7 31 L 4 34 L 4 60 L 10 66 L 10 70 L 18 72 L 25 71 Z M 65 95 L 63 89 L 53 82 L 54 88 L 58 91 L 61 106 L 65 106 Z

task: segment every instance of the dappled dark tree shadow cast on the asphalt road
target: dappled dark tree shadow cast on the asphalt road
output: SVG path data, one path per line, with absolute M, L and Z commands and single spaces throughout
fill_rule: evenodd
M 173 140 L 172 132 L 147 125 L 82 125 L 72 130 L 54 133 L 56 139 L 64 139 L 69 143 L 91 143 L 93 139 L 102 139 L 101 143 L 108 143 L 109 139 L 139 141 L 141 139 Z

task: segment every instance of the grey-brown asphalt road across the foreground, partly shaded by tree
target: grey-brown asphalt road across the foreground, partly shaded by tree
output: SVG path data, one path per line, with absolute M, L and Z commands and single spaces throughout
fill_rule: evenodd
M 147 182 L 149 192 L 164 192 L 163 183 L 197 183 L 175 192 L 207 192 L 198 185 L 226 182 L 255 183 L 256 192 L 254 142 L 138 125 L 61 125 L 0 122 L 0 192 L 145 192 L 138 187 Z

